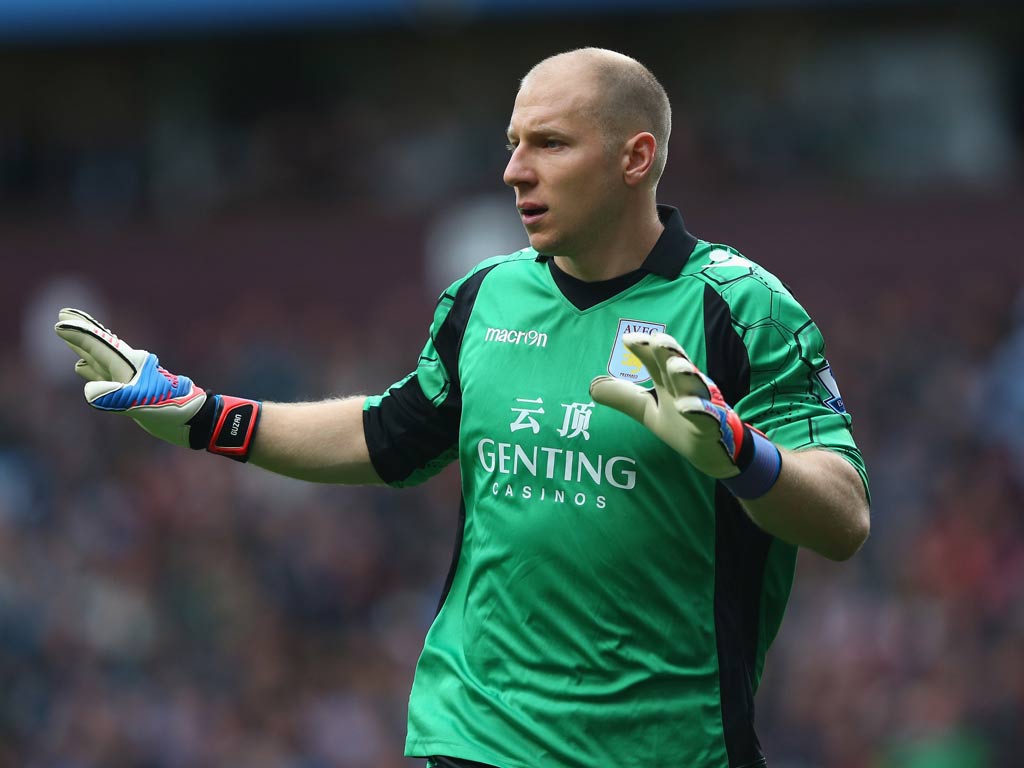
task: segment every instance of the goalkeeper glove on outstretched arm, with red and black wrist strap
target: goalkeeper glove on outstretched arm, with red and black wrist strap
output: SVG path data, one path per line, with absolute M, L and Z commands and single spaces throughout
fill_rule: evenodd
M 150 434 L 175 445 L 206 449 L 238 461 L 249 458 L 261 404 L 213 394 L 160 366 L 80 309 L 61 309 L 53 327 L 81 357 L 85 399 L 100 411 L 130 416 Z

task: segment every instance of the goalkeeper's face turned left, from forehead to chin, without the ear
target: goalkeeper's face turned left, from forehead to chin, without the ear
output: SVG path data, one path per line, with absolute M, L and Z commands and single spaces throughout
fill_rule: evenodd
M 535 72 L 516 96 L 504 178 L 542 253 L 586 254 L 618 218 L 622 168 L 598 124 L 597 98 L 593 78 L 564 70 Z

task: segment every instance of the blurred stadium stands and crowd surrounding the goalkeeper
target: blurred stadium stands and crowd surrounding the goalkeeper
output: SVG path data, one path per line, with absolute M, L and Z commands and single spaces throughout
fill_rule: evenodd
M 773 768 L 1024 754 L 1018 2 L 0 2 L 0 766 L 398 768 L 457 473 L 325 487 L 91 413 L 56 309 L 221 391 L 380 391 L 524 244 L 517 78 L 581 45 L 673 98 L 660 198 L 822 328 L 872 478 L 804 554 Z M 638 553 L 642 557 L 642 553 Z

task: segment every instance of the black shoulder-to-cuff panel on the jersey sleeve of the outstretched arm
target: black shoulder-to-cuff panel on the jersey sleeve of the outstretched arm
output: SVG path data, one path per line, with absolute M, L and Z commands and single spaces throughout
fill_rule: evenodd
M 370 450 L 370 460 L 384 482 L 400 483 L 419 470 L 429 469 L 435 462 L 446 464 L 459 442 L 462 422 L 462 385 L 459 378 L 459 354 L 462 338 L 469 324 L 480 284 L 494 266 L 471 274 L 459 286 L 455 295 L 444 293 L 438 300 L 438 311 L 450 308 L 424 350 L 420 365 L 436 366 L 444 372 L 446 386 L 429 397 L 413 374 L 391 387 L 378 404 L 362 412 L 362 429 Z M 436 323 L 436 321 L 435 321 Z M 436 357 L 430 355 L 433 351 Z M 436 370 L 436 369 L 434 369 Z M 436 376 L 435 376 L 436 378 Z M 435 470 L 436 471 L 436 470 Z M 432 474 L 432 472 L 431 472 Z M 418 481 L 425 477 L 418 478 Z

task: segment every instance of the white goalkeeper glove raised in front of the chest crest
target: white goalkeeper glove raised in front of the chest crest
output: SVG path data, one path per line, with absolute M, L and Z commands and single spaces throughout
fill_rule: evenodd
M 654 388 L 598 376 L 590 383 L 594 401 L 643 424 L 737 498 L 768 493 L 782 466 L 778 449 L 742 422 L 679 342 L 668 334 L 638 333 L 626 334 L 623 341 L 650 372 Z

